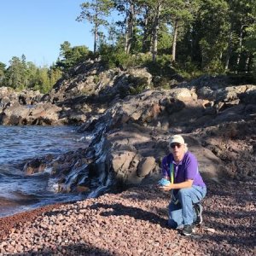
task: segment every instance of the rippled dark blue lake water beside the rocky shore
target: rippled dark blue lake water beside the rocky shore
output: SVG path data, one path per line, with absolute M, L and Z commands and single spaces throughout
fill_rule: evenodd
M 79 195 L 56 194 L 48 173 L 25 176 L 22 160 L 84 148 L 84 137 L 70 126 L 0 125 L 0 217 L 46 204 L 78 200 Z

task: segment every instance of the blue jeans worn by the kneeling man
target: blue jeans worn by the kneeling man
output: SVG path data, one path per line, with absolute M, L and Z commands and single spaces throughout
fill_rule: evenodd
M 196 220 L 193 205 L 199 203 L 207 195 L 207 187 L 192 186 L 188 189 L 179 189 L 177 204 L 172 200 L 169 204 L 168 224 L 172 229 L 182 225 L 193 224 Z

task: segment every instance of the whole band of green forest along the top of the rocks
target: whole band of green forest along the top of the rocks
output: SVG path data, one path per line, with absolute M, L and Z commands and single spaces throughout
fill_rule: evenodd
M 100 59 L 106 68 L 148 67 L 154 75 L 242 74 L 256 79 L 255 0 L 95 0 L 76 19 L 92 25 L 94 47 L 60 46 L 50 67 L 26 56 L 0 60 L 0 86 L 49 91 L 70 68 Z

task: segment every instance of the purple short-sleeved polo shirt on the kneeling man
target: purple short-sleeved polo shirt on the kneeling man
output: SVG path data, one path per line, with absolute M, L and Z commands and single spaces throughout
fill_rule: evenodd
M 170 168 L 174 171 L 174 183 L 182 183 L 187 179 L 193 179 L 193 185 L 206 187 L 203 182 L 200 172 L 198 171 L 198 163 L 196 157 L 191 152 L 187 151 L 183 160 L 177 165 L 173 159 L 173 155 L 168 154 L 162 160 L 162 173 L 164 177 L 170 178 Z

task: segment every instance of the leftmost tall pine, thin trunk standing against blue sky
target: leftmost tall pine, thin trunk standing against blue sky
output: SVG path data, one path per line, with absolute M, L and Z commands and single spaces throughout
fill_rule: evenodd
M 80 5 L 82 11 L 76 20 L 84 21 L 88 20 L 90 24 L 93 24 L 92 32 L 94 34 L 94 48 L 97 50 L 97 39 L 100 26 L 107 26 L 108 21 L 106 17 L 110 14 L 110 10 L 113 8 L 113 2 L 111 0 L 96 0 L 85 2 Z

